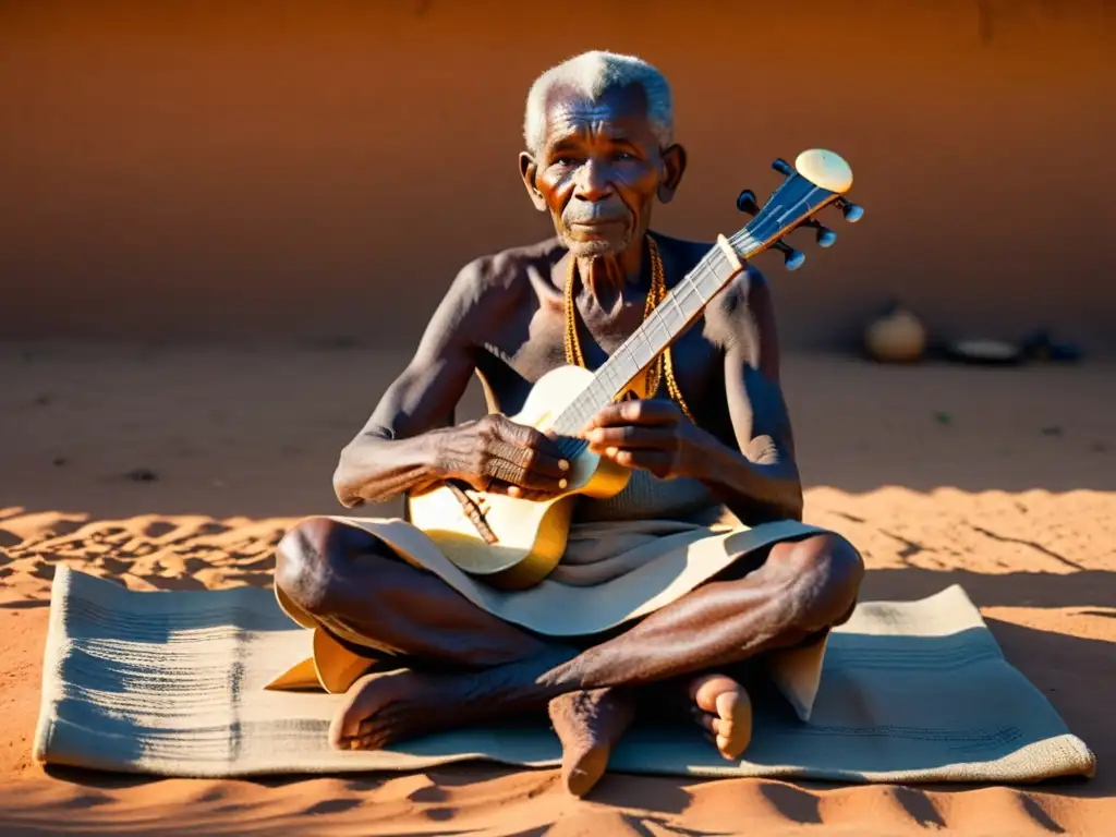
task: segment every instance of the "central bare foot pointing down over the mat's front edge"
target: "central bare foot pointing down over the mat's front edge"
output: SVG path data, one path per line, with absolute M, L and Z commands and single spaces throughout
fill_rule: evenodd
M 548 711 L 561 741 L 562 785 L 584 797 L 604 776 L 613 745 L 635 716 L 635 705 L 623 690 L 591 689 L 558 695 Z

